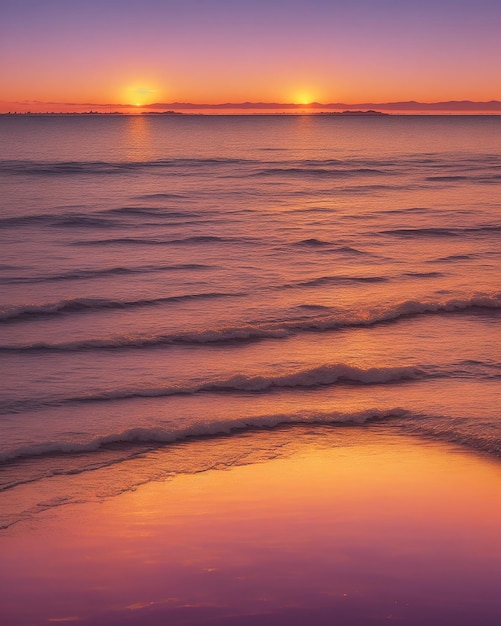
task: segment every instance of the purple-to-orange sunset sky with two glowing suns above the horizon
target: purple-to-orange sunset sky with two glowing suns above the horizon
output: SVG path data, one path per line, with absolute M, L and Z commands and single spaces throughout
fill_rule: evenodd
M 0 0 L 0 111 L 501 100 L 499 0 Z

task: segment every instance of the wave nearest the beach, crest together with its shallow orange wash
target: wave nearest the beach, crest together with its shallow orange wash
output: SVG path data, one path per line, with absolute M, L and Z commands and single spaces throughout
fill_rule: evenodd
M 96 498 L 101 501 L 103 497 L 119 495 L 150 481 L 287 457 L 297 451 L 297 441 L 301 441 L 305 429 L 308 440 L 317 435 L 325 438 L 324 445 L 346 445 L 344 437 L 339 439 L 340 430 L 347 434 L 348 429 L 354 428 L 370 431 L 375 440 L 381 431 L 385 436 L 394 432 L 425 441 L 431 438 L 448 446 L 459 444 L 501 457 L 499 431 L 493 432 L 489 423 L 471 429 L 473 422 L 476 424 L 477 420 L 458 429 L 457 420 L 450 416 L 425 415 L 390 406 L 345 413 L 301 411 L 249 415 L 177 428 L 135 426 L 88 433 L 78 441 L 41 441 L 0 454 L 0 463 L 6 470 L 0 480 L 0 492 L 11 491 L 14 496 L 11 506 L 2 511 L 0 528 L 32 520 L 47 509 L 64 504 Z M 252 445 L 253 437 L 257 438 L 257 447 Z M 348 438 L 348 445 L 350 442 Z M 165 455 L 161 454 L 162 450 Z M 84 480 L 79 480 L 79 476 Z M 54 497 L 54 479 L 57 497 Z M 28 499 L 17 498 L 14 490 L 27 484 L 31 484 Z M 101 488 L 103 484 L 105 490 Z

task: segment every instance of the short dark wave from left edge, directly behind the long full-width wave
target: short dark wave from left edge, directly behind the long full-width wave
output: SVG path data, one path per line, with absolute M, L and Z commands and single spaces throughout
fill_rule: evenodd
M 212 300 L 214 298 L 228 298 L 243 296 L 244 293 L 188 293 L 179 296 L 166 296 L 163 298 L 142 298 L 139 300 L 109 300 L 107 298 L 71 298 L 59 302 L 46 304 L 26 304 L 17 307 L 0 310 L 0 322 L 14 322 L 27 318 L 47 317 L 68 313 L 83 313 L 99 311 L 103 309 L 131 309 L 145 306 L 158 306 L 186 300 Z

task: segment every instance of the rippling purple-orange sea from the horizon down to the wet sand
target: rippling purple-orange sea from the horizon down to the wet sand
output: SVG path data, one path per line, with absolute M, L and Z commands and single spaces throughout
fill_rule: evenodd
M 4 526 L 236 429 L 501 456 L 501 117 L 3 116 L 0 185 Z

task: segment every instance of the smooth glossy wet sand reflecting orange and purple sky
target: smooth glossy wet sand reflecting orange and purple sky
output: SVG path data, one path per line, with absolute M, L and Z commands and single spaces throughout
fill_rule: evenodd
M 2 623 L 501 623 L 498 460 L 384 427 L 259 431 L 177 452 L 212 468 L 2 531 Z M 136 460 L 138 475 L 173 453 Z M 108 476 L 113 491 L 119 471 Z

